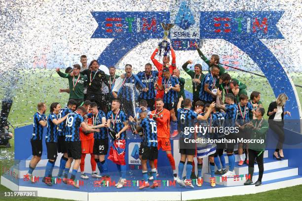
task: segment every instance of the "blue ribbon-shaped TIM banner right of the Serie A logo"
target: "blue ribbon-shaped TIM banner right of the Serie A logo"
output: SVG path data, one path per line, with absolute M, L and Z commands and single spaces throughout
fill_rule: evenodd
M 276 27 L 284 11 L 200 12 L 200 38 L 282 39 Z

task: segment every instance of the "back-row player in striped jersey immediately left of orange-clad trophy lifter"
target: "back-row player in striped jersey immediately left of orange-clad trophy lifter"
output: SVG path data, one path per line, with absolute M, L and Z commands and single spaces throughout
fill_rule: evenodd
M 145 65 L 145 71 L 139 72 L 136 74 L 138 78 L 146 85 L 146 89 L 139 95 L 140 100 L 147 100 L 147 103 L 151 110 L 154 110 L 155 106 L 155 89 L 154 82 L 156 81 L 156 77 L 158 76 L 158 71 L 152 70 L 152 65 L 147 63 Z

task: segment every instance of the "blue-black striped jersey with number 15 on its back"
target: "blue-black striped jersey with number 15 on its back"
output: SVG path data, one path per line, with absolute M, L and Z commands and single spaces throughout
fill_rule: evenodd
M 143 128 L 143 145 L 147 147 L 157 147 L 157 127 L 153 119 L 146 117 L 140 123 Z

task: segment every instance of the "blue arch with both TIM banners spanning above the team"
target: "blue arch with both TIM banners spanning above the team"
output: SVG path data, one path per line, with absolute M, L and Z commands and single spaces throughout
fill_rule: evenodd
M 151 38 L 162 38 L 161 22 L 170 22 L 170 12 L 91 12 L 98 23 L 91 38 L 113 38 L 98 58 L 100 64 L 115 66 L 129 51 Z M 283 39 L 276 27 L 283 11 L 213 11 L 200 12 L 199 39 L 225 39 L 244 51 L 262 70 L 275 96 L 286 93 L 289 97 L 286 108 L 292 119 L 299 120 L 300 101 L 287 73 L 260 40 Z M 177 18 L 178 21 L 179 18 Z M 173 23 L 173 22 L 172 22 Z M 183 18 L 183 22 L 188 20 Z M 178 25 L 176 25 L 178 26 Z M 183 27 L 183 26 L 182 26 Z M 187 29 L 188 26 L 185 26 Z M 185 30 L 184 30 L 185 31 Z M 172 45 L 175 39 L 172 39 Z M 175 50 L 192 50 L 196 37 L 179 39 L 188 46 L 173 45 Z M 297 121 L 298 122 L 298 121 Z M 300 125 L 295 126 L 300 132 Z

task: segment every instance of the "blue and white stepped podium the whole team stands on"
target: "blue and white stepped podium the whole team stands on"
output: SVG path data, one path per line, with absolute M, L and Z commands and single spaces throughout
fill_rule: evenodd
M 194 188 L 184 188 L 179 186 L 173 180 L 173 173 L 166 157 L 165 152 L 158 152 L 158 173 L 157 178 L 159 187 L 156 189 L 139 190 L 141 184 L 142 170 L 138 158 L 138 147 L 141 138 L 127 131 L 128 140 L 126 146 L 126 163 L 127 163 L 127 182 L 121 189 L 116 189 L 114 184 L 118 181 L 118 172 L 115 164 L 108 160 L 109 174 L 111 182 L 100 183 L 98 179 L 91 178 L 90 155 L 87 154 L 85 158 L 85 172 L 89 179 L 81 179 L 80 172 L 76 175 L 76 182 L 78 182 L 79 189 L 72 185 L 64 184 L 61 178 L 56 175 L 59 170 L 59 161 L 61 155 L 58 156 L 53 170 L 52 183 L 49 187 L 42 182 L 45 167 L 47 163 L 45 144 L 43 144 L 42 159 L 33 172 L 36 183 L 29 181 L 26 178 L 29 163 L 31 160 L 31 145 L 30 137 L 32 134 L 32 126 L 24 126 L 15 129 L 15 163 L 12 167 L 2 167 L 1 184 L 14 191 L 38 191 L 39 197 L 70 199 L 78 201 L 97 201 L 100 198 L 108 201 L 142 201 L 142 200 L 156 200 L 156 201 L 174 201 L 174 200 L 194 200 L 200 198 L 224 197 L 233 195 L 244 195 L 264 192 L 273 189 L 285 188 L 302 184 L 302 149 L 292 148 L 285 149 L 284 153 L 286 159 L 277 161 L 271 158 L 274 150 L 268 149 L 264 152 L 264 175 L 263 185 L 255 187 L 254 185 L 244 186 L 243 183 L 247 179 L 248 167 L 247 165 L 238 166 L 238 155 L 235 155 L 235 172 L 233 177 L 222 177 L 215 175 L 216 187 L 212 188 L 209 183 L 209 166 L 207 158 L 203 163 L 203 180 L 202 187 L 197 187 L 196 180 L 192 180 Z M 44 133 L 45 134 L 45 133 Z M 271 139 L 269 143 L 274 144 L 273 137 L 269 137 L 271 131 L 268 133 L 268 138 Z M 293 139 L 296 137 L 300 139 L 301 135 L 289 130 L 286 130 L 287 138 Z M 299 138 L 299 139 L 298 139 Z M 301 139 L 300 139 L 301 141 Z M 44 140 L 43 140 L 43 143 Z M 176 162 L 176 167 L 180 161 L 180 154 L 178 153 L 178 140 L 171 140 L 173 155 Z M 298 146 L 297 146 L 298 147 Z M 226 163 L 228 163 L 227 155 L 224 154 Z M 195 164 L 197 164 L 196 159 Z M 227 164 L 228 165 L 228 164 Z M 176 168 L 177 169 L 177 168 Z M 97 169 L 98 171 L 98 169 Z M 184 170 L 186 174 L 186 170 Z M 195 166 L 195 172 L 197 167 Z M 253 181 L 258 178 L 258 166 L 255 164 L 255 172 Z M 217 193 L 219 191 L 219 193 Z

